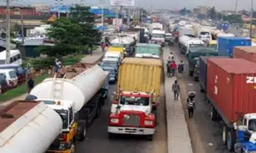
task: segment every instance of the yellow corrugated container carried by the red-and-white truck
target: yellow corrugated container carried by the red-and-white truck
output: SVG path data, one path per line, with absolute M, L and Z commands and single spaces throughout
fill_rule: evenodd
M 162 61 L 160 59 L 125 58 L 118 69 L 116 93 L 122 91 L 151 92 L 160 96 Z M 155 97 L 155 98 L 156 98 Z M 156 99 L 154 99 L 156 100 Z

